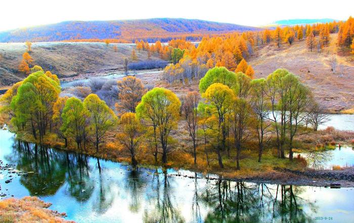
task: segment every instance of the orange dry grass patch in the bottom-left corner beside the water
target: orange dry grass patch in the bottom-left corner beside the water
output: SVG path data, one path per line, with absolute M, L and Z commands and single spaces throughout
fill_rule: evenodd
M 47 209 L 49 206 L 37 197 L 9 198 L 0 201 L 0 222 L 73 222 L 62 218 L 65 213 Z

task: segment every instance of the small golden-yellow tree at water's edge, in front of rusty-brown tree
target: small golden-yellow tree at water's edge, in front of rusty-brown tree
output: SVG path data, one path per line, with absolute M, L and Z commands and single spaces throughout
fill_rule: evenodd
M 143 127 L 134 113 L 124 113 L 119 121 L 121 126 L 117 139 L 124 150 L 129 152 L 131 165 L 136 168 L 138 161 L 136 159 L 139 153 L 139 146 L 143 137 Z

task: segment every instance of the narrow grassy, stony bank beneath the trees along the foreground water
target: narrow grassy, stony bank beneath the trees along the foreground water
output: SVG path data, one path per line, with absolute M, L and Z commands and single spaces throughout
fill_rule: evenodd
M 17 135 L 17 139 L 33 142 L 33 140 L 28 140 L 28 137 L 26 138 L 21 134 Z M 51 139 L 51 141 L 47 140 L 47 143 L 43 144 L 47 147 L 55 147 L 62 151 L 75 152 L 115 162 L 123 162 L 125 163 L 125 165 L 129 165 L 129 158 L 117 153 L 117 151 L 112 147 L 103 147 L 101 148 L 101 151 L 99 153 L 93 150 L 93 148 L 87 148 L 86 151 L 82 150 L 80 152 L 77 152 L 75 150 L 75 147 L 68 146 L 65 148 L 62 146 L 62 143 L 58 143 L 53 140 L 53 137 L 51 137 Z M 319 151 L 319 153 L 321 152 L 322 151 Z M 231 156 L 232 155 L 233 153 L 231 153 Z M 200 153 L 199 156 L 203 156 L 203 154 Z M 151 170 L 157 168 L 172 168 L 177 171 L 179 171 L 180 169 L 189 170 L 193 172 L 202 173 L 205 178 L 209 178 L 207 177 L 208 174 L 215 174 L 216 176 L 212 177 L 214 179 L 233 181 L 309 185 L 316 187 L 330 187 L 332 183 L 339 183 L 340 187 L 354 187 L 354 168 L 351 167 L 350 164 L 349 167 L 347 167 L 347 164 L 345 164 L 346 167 L 340 168 L 339 170 L 316 170 L 313 168 L 306 167 L 308 161 L 304 161 L 304 155 L 300 157 L 301 158 L 295 158 L 293 161 L 289 161 L 288 159 L 277 159 L 273 157 L 273 155 L 264 152 L 261 163 L 256 162 L 255 157 L 248 157 L 242 160 L 241 171 L 236 171 L 234 165 L 230 164 L 230 161 L 225 162 L 225 169 L 220 169 L 216 164 L 211 166 L 195 166 L 192 164 L 188 164 L 188 161 L 186 159 L 181 159 L 180 157 L 170 157 L 170 159 L 182 160 L 182 163 L 170 162 L 164 167 L 161 167 L 159 164 L 152 163 L 151 160 L 141 158 L 140 166 Z M 183 176 L 189 177 L 185 175 Z

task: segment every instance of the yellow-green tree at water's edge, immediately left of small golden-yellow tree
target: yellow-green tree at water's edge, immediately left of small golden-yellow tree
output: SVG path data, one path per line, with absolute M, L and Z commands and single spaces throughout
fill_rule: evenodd
M 84 100 L 83 105 L 89 112 L 89 120 L 95 134 L 96 152 L 99 151 L 99 144 L 106 132 L 113 129 L 117 123 L 117 117 L 113 110 L 109 108 L 105 101 L 101 100 L 96 94 L 89 94 Z

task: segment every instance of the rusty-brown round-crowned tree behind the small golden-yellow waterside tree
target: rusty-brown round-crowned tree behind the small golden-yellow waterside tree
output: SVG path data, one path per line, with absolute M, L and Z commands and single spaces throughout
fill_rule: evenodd
M 146 93 L 146 88 L 140 79 L 132 76 L 123 78 L 117 82 L 119 90 L 119 104 L 116 104 L 117 110 L 135 113 L 135 108 Z

